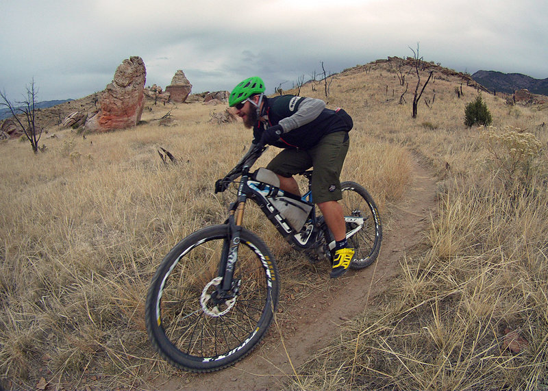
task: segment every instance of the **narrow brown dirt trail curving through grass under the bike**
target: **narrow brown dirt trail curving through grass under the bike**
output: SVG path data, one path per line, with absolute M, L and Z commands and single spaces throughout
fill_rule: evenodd
M 360 314 L 368 299 L 382 292 L 386 281 L 398 273 L 402 255 L 423 239 L 429 216 L 435 210 L 436 180 L 413 160 L 412 184 L 396 210 L 390 211 L 393 214 L 390 231 L 385 224 L 382 249 L 373 265 L 362 270 L 349 270 L 343 277 L 329 281 L 328 290 L 314 291 L 285 305 L 283 311 L 291 313 L 291 322 L 285 321 L 280 326 L 274 320 L 263 342 L 234 366 L 214 373 L 182 373 L 182 377 L 169 379 L 160 376 L 153 381 L 153 389 L 240 391 L 285 388 L 287 377 L 294 374 L 292 368 L 298 368 L 315 351 L 327 346 L 329 340 L 340 332 L 340 325 Z M 280 296 L 283 294 L 282 284 Z

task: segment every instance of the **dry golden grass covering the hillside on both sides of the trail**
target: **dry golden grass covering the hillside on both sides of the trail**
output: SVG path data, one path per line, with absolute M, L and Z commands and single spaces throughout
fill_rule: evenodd
M 546 387 L 548 111 L 484 93 L 496 129 L 468 129 L 464 106 L 476 88 L 434 66 L 412 119 L 416 75 L 409 71 L 397 59 L 375 62 L 329 79 L 327 99 L 322 85 L 301 89 L 353 116 L 343 178 L 368 188 L 387 232 L 393 210 L 405 207 L 414 159 L 439 180 L 439 210 L 386 294 L 298 368 L 292 387 Z M 421 71 L 422 81 L 428 73 Z M 409 84 L 403 104 L 401 75 Z M 126 131 L 84 138 L 52 127 L 47 153 L 34 155 L 17 140 L 0 144 L 5 388 L 35 388 L 42 378 L 67 389 L 148 388 L 155 373 L 175 373 L 147 340 L 148 284 L 178 240 L 223 221 L 232 200 L 213 194 L 214 181 L 234 166 L 251 134 L 240 124 L 208 123 L 221 106 L 149 108 L 146 123 Z M 178 125 L 153 121 L 168 110 Z M 158 147 L 179 164 L 162 164 Z M 257 166 L 274 154 L 269 149 Z M 257 208 L 245 225 L 279 260 L 283 290 L 310 278 L 295 273 L 295 264 L 308 260 L 288 249 Z M 319 270 L 314 284 L 322 286 L 326 275 Z M 519 331 L 528 348 L 503 349 L 505 329 Z

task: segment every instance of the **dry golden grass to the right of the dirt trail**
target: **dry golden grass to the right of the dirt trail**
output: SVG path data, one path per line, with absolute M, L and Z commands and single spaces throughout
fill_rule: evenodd
M 387 294 L 300 368 L 308 377 L 296 389 L 548 388 L 548 113 L 484 94 L 497 127 L 486 135 L 462 125 L 472 88 L 464 88 L 468 99 L 445 82 L 432 88 L 436 101 L 421 105 L 416 122 L 409 105 L 366 94 L 370 108 L 390 114 L 372 108 L 363 123 L 432 164 L 439 210 L 427 242 L 403 257 Z M 505 329 L 527 349 L 503 349 Z

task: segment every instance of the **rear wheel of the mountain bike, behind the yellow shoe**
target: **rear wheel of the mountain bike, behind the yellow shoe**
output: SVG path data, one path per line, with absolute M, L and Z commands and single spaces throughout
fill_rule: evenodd
M 381 249 L 382 225 L 377 205 L 365 188 L 356 182 L 343 182 L 343 206 L 347 240 L 356 251 L 350 268 L 361 269 L 377 259 Z

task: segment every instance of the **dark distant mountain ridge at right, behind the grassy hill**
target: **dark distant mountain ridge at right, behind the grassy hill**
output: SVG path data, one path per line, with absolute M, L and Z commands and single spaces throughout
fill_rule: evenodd
M 472 79 L 493 92 L 513 94 L 516 90 L 526 88 L 532 94 L 548 95 L 548 78 L 534 79 L 521 73 L 477 71 Z

